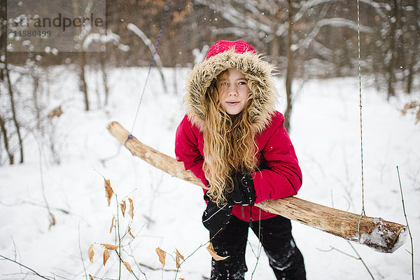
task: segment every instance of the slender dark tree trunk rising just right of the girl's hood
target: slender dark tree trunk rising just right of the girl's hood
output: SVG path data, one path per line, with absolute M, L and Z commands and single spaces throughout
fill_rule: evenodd
M 287 69 L 286 69 L 286 100 L 287 107 L 284 112 L 284 127 L 290 133 L 290 116 L 292 115 L 293 100 L 292 100 L 292 80 L 293 80 L 293 53 L 292 53 L 292 31 L 293 31 L 293 6 L 292 0 L 288 0 L 288 30 L 287 30 Z

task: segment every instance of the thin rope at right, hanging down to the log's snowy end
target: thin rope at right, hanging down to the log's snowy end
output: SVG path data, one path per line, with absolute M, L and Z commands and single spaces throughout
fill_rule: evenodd
M 359 108 L 360 108 L 360 164 L 361 164 L 361 175 L 362 175 L 362 212 L 358 221 L 358 236 L 360 239 L 360 222 L 362 216 L 365 216 L 365 188 L 363 180 L 363 123 L 362 123 L 362 71 L 360 68 L 360 8 L 359 0 L 357 0 L 357 41 L 358 41 L 358 80 L 359 80 Z

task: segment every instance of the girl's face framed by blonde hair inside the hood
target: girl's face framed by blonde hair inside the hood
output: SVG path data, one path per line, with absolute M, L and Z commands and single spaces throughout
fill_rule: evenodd
M 217 83 L 219 102 L 226 113 L 235 116 L 246 106 L 249 96 L 248 80 L 244 73 L 230 68 Z

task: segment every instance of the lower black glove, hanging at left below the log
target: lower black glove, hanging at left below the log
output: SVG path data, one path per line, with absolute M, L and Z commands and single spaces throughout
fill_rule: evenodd
M 212 234 L 215 234 L 219 230 L 224 230 L 230 221 L 234 204 L 226 203 L 218 207 L 216 202 L 211 201 L 207 193 L 204 194 L 204 200 L 209 201 L 202 217 L 204 227 Z

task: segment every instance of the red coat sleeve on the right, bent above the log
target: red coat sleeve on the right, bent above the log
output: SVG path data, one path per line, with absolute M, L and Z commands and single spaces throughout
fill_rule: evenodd
M 253 174 L 255 203 L 297 194 L 302 185 L 302 172 L 290 141 L 284 117 L 277 113 L 269 126 L 269 139 L 262 149 L 265 168 Z

